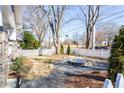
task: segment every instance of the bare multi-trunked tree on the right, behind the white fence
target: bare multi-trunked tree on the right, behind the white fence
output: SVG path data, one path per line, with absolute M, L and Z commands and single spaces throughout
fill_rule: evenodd
M 91 36 L 93 34 L 94 30 L 94 25 L 96 24 L 99 14 L 100 14 L 100 6 L 95 6 L 95 5 L 89 5 L 86 6 L 85 9 L 83 9 L 80 6 L 81 13 L 84 16 L 84 22 L 86 26 L 86 48 L 90 47 L 90 40 Z M 86 10 L 86 11 L 84 11 Z

